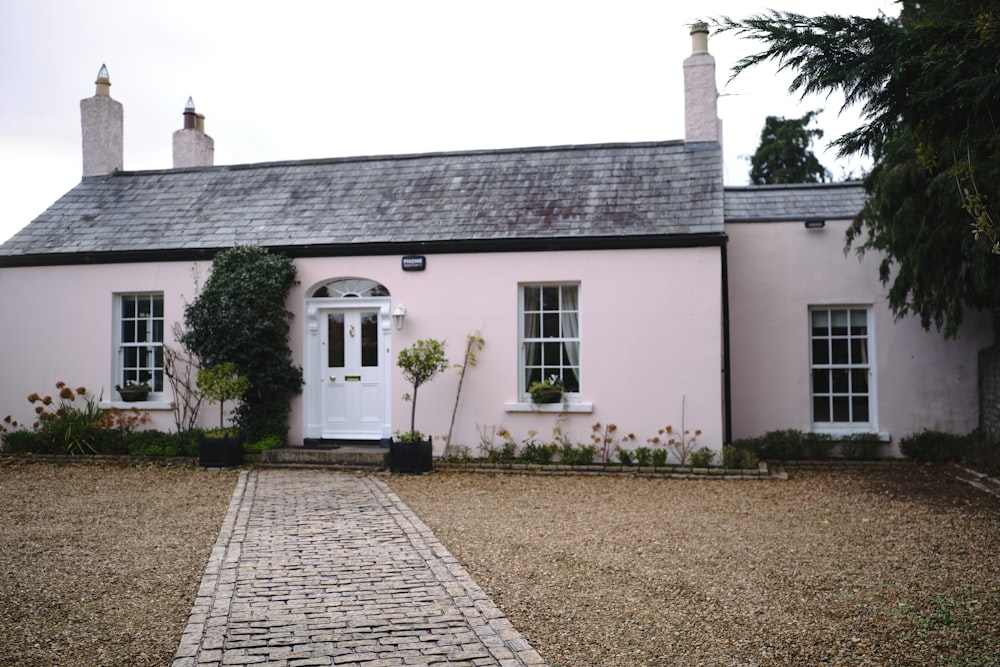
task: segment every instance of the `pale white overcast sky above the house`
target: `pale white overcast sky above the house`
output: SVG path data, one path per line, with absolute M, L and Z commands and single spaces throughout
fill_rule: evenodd
M 215 164 L 684 136 L 688 26 L 769 7 L 897 14 L 890 0 L 0 0 L 0 242 L 80 181 L 79 101 L 102 64 L 125 107 L 126 170 L 166 169 L 193 97 Z M 858 123 L 800 101 L 790 76 L 729 81 L 757 45 L 709 38 L 728 185 L 767 115 L 826 109 L 826 141 Z

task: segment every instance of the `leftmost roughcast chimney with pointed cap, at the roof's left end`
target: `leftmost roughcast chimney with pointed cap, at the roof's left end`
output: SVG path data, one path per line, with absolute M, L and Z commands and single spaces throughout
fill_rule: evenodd
M 95 83 L 94 96 L 80 100 L 84 177 L 110 174 L 124 164 L 125 110 L 121 102 L 111 99 L 111 80 L 104 65 Z

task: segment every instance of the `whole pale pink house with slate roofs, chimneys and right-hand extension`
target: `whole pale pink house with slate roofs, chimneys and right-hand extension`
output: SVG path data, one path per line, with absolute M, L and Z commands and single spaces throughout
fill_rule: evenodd
M 258 244 L 298 270 L 293 446 L 407 430 L 398 351 L 437 338 L 458 362 L 474 333 L 452 437 L 473 451 L 500 427 L 586 442 L 595 422 L 641 445 L 683 420 L 716 450 L 775 428 L 974 427 L 988 323 L 946 343 L 893 322 L 872 260 L 842 252 L 859 186 L 724 188 L 714 60 L 693 37 L 681 141 L 212 166 L 189 101 L 174 167 L 141 172 L 122 170 L 102 68 L 83 180 L 0 246 L 0 413 L 30 421 L 24 397 L 57 380 L 118 405 L 142 377 L 172 429 L 172 325 L 215 252 Z M 531 403 L 549 375 L 566 401 Z M 447 433 L 457 385 L 421 389 L 418 429 Z

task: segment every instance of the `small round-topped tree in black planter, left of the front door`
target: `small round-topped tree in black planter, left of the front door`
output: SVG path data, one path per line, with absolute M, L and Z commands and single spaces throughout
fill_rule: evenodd
M 226 427 L 226 401 L 243 398 L 250 381 L 236 364 L 226 362 L 198 371 L 198 390 L 209 403 L 219 404 L 219 428 L 205 431 L 198 441 L 198 464 L 203 468 L 228 468 L 243 464 L 243 434 Z

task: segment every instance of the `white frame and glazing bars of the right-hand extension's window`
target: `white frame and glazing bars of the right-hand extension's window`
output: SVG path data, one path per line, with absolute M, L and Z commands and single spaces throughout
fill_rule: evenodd
M 829 318 L 832 318 L 833 313 L 837 311 L 846 311 L 848 318 L 848 332 L 845 335 L 833 335 L 832 327 L 828 329 L 826 336 L 814 336 L 813 335 L 813 316 L 817 312 L 825 311 Z M 852 312 L 860 311 L 865 314 L 866 318 L 866 332 L 864 334 L 864 353 L 867 359 L 864 362 L 859 362 L 853 358 L 853 346 L 852 341 L 859 340 L 857 334 L 852 334 L 850 332 L 850 317 Z M 809 340 L 809 416 L 810 422 L 812 424 L 812 430 L 816 433 L 829 433 L 831 435 L 849 435 L 853 433 L 878 433 L 878 377 L 877 369 L 878 364 L 875 356 L 876 346 L 875 346 L 875 316 L 874 310 L 871 304 L 823 304 L 810 306 L 808 309 L 808 319 L 807 319 L 807 331 Z M 828 341 L 828 356 L 826 362 L 822 360 L 817 360 L 814 353 L 814 341 L 826 340 Z M 834 363 L 832 356 L 832 342 L 834 340 L 846 340 L 848 360 L 847 363 Z M 817 371 L 848 371 L 848 387 L 846 391 L 833 391 L 833 380 L 832 378 L 828 381 L 828 387 L 826 392 L 821 392 L 822 396 L 846 396 L 848 401 L 848 406 L 851 406 L 852 398 L 855 395 L 852 385 L 852 371 L 864 370 L 867 373 L 867 394 L 868 397 L 868 420 L 867 421 L 832 421 L 833 418 L 833 407 L 830 407 L 830 417 L 831 421 L 817 421 L 816 419 L 816 398 L 817 398 L 817 385 L 816 382 L 819 379 L 816 377 Z M 857 392 L 859 395 L 861 392 Z

